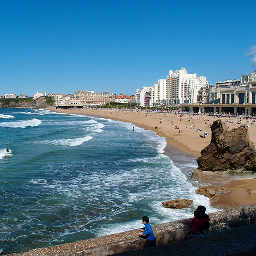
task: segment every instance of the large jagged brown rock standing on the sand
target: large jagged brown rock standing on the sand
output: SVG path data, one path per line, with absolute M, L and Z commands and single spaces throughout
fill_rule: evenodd
M 211 126 L 211 143 L 198 157 L 198 171 L 250 170 L 256 172 L 256 150 L 249 140 L 248 128 L 241 125 L 227 131 L 220 119 Z

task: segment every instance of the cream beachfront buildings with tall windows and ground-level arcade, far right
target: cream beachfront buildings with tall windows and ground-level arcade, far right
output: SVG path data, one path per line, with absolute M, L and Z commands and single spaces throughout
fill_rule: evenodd
M 182 110 L 256 115 L 256 70 L 242 75 L 240 79 L 220 81 L 215 87 L 201 88 L 200 93 L 197 104 L 183 104 Z

